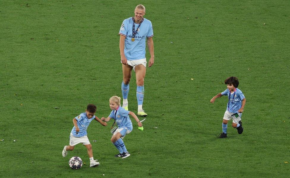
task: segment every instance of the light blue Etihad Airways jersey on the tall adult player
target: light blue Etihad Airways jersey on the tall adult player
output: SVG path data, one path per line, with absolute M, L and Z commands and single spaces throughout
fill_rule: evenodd
M 132 41 L 133 24 L 135 24 L 135 31 L 137 30 L 134 41 Z M 154 35 L 150 20 L 143 18 L 138 28 L 139 25 L 134 22 L 133 17 L 130 17 L 123 21 L 119 31 L 119 35 L 126 36 L 124 54 L 129 61 L 145 58 L 146 38 L 152 38 Z

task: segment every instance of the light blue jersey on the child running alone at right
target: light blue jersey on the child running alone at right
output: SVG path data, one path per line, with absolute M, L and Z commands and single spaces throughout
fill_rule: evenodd
M 222 95 L 229 96 L 230 90 L 226 89 L 221 93 Z M 234 95 L 235 94 L 235 95 Z M 234 96 L 233 96 L 234 95 Z M 245 98 L 244 94 L 241 90 L 236 88 L 235 93 L 231 93 L 230 101 L 227 104 L 227 111 L 228 112 L 238 112 L 238 110 L 242 107 L 242 100 Z M 234 99 L 234 100 L 233 100 Z

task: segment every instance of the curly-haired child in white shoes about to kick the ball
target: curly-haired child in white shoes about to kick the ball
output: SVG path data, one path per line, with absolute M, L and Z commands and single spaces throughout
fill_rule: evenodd
M 86 129 L 92 120 L 98 121 L 103 126 L 107 126 L 107 123 L 101 121 L 94 114 L 96 113 L 97 107 L 94 104 L 89 104 L 86 108 L 86 112 L 81 113 L 79 116 L 73 118 L 73 129 L 70 132 L 70 145 L 64 146 L 62 150 L 62 156 L 67 156 L 68 150 L 73 150 L 75 145 L 82 143 L 88 149 L 88 155 L 90 158 L 90 167 L 99 166 L 100 163 L 94 160 L 92 145 L 89 142 Z

